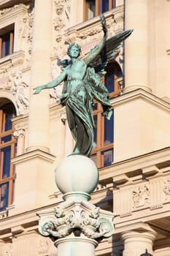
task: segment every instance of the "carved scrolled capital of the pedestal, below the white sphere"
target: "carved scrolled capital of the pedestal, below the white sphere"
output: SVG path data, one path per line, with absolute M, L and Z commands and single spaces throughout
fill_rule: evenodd
M 86 201 L 66 201 L 50 212 L 41 211 L 38 215 L 41 217 L 39 233 L 50 236 L 53 241 L 67 236 L 101 241 L 113 233 L 113 215 Z

